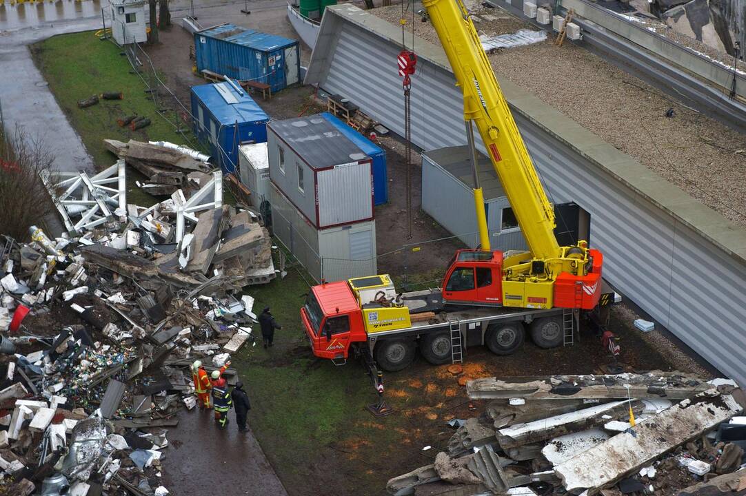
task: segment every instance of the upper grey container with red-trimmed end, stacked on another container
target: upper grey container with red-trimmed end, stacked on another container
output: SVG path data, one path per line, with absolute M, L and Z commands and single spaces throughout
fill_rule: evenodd
M 322 116 L 267 125 L 269 178 L 317 229 L 373 219 L 372 160 Z

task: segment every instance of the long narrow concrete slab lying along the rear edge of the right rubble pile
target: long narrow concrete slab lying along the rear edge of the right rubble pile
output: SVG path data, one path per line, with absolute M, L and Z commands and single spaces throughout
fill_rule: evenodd
M 627 387 L 629 386 L 629 389 Z M 623 399 L 691 398 L 711 386 L 700 377 L 679 372 L 648 374 L 485 377 L 466 384 L 469 398 Z

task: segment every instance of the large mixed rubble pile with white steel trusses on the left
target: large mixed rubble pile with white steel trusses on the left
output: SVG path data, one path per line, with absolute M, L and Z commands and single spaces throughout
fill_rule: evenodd
M 254 342 L 241 289 L 275 277 L 260 216 L 222 204 L 219 172 L 149 208 L 126 204 L 124 174 L 45 178 L 69 232 L 0 236 L 1 494 L 168 494 L 189 365 Z

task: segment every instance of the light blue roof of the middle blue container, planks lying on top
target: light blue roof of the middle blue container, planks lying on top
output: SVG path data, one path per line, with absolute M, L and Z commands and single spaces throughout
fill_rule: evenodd
M 193 86 L 192 93 L 221 124 L 269 121 L 269 116 L 251 96 L 237 92 L 228 82 Z

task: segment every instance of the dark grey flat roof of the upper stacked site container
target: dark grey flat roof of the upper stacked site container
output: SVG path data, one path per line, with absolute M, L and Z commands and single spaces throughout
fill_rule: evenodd
M 272 121 L 267 128 L 286 142 L 311 169 L 326 169 L 367 158 L 360 147 L 319 115 Z

